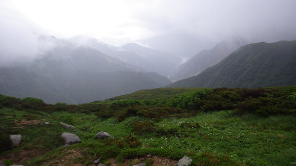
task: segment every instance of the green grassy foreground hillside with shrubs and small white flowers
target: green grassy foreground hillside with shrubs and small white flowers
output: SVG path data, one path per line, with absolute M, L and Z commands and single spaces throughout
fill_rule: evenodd
M 0 141 L 7 142 L 9 134 L 23 136 L 12 149 L 1 144 L 0 160 L 43 166 L 91 165 L 99 158 L 109 166 L 176 165 L 184 155 L 194 166 L 288 166 L 296 161 L 296 86 L 187 89 L 161 99 L 47 105 L 0 95 Z M 59 136 L 73 131 L 59 122 L 73 125 L 81 143 L 62 147 Z M 113 138 L 94 139 L 100 131 Z

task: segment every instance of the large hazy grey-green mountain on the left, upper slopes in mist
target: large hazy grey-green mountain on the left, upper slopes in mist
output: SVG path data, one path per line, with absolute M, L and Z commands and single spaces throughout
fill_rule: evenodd
M 65 40 L 31 63 L 0 68 L 0 94 L 36 97 L 46 103 L 104 100 L 171 83 L 98 50 Z

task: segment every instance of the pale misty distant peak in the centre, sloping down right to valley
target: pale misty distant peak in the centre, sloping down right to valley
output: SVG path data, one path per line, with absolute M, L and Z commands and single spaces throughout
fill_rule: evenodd
M 135 52 L 137 55 L 145 57 L 150 62 L 150 66 L 143 67 L 148 71 L 154 71 L 163 76 L 169 76 L 180 65 L 182 58 L 171 53 L 150 49 L 136 43 L 129 43 L 120 48 L 126 51 Z M 142 65 L 141 65 L 142 66 Z

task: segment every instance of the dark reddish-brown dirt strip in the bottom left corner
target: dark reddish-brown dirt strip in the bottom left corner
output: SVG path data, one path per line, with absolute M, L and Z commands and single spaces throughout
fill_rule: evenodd
M 46 151 L 44 149 L 30 149 L 30 150 L 21 150 L 19 153 L 14 154 L 6 154 L 4 156 L 0 156 L 0 160 L 3 161 L 7 159 L 13 163 L 22 163 L 28 160 L 31 160 L 37 156 L 41 156 L 45 154 Z

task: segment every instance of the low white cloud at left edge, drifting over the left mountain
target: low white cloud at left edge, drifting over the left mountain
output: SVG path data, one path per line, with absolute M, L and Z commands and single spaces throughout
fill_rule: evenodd
M 30 62 L 53 46 L 35 26 L 18 12 L 0 7 L 0 67 Z

